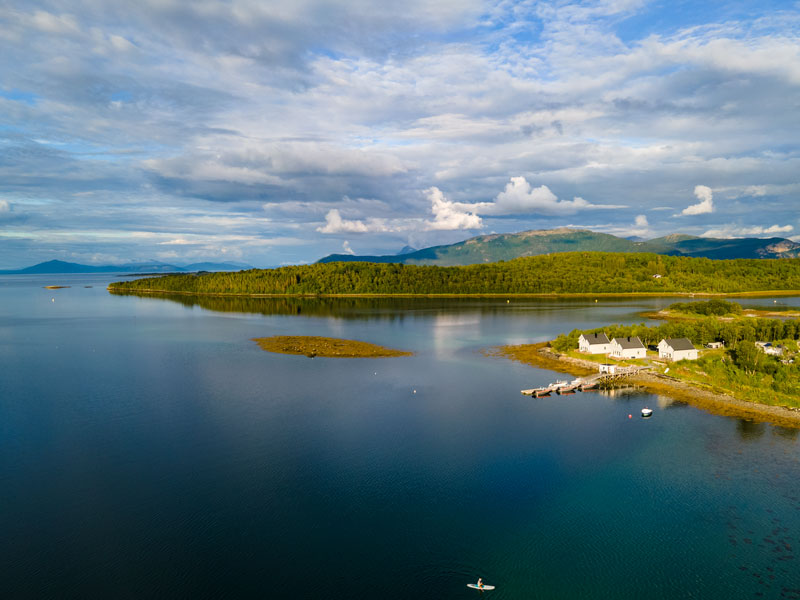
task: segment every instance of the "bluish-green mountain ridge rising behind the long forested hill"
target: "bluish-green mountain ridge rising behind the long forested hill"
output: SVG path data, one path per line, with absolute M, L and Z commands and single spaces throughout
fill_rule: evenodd
M 677 256 L 725 258 L 797 258 L 800 244 L 784 238 L 701 238 L 673 234 L 646 241 L 585 229 L 545 229 L 480 235 L 457 244 L 385 256 L 331 254 L 318 262 L 378 262 L 408 265 L 472 265 L 556 252 L 654 252 Z

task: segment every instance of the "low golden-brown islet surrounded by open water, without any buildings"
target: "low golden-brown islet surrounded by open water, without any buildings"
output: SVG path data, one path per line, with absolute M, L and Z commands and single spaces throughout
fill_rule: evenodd
M 263 350 L 277 354 L 298 354 L 314 358 L 389 358 L 394 356 L 413 356 L 413 352 L 393 350 L 360 342 L 358 340 L 342 340 L 338 338 L 315 335 L 275 335 L 265 338 L 253 338 Z

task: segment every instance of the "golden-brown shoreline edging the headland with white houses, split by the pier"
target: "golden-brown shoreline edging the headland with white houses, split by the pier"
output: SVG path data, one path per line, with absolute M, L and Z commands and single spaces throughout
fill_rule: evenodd
M 494 348 L 488 354 L 573 376 L 597 372 L 596 363 L 558 354 L 548 344 L 549 342 L 525 344 L 523 346 L 527 348 L 527 351 L 524 353 L 514 352 L 512 350 L 515 348 L 514 346 L 501 346 Z M 781 427 L 800 428 L 800 409 L 739 400 L 727 394 L 705 390 L 684 381 L 655 373 L 643 372 L 632 375 L 630 381 L 650 393 L 670 396 L 715 415 L 767 422 Z

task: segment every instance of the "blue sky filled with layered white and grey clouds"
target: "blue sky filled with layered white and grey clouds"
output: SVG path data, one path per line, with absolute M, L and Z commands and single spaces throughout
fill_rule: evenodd
M 800 1 L 0 0 L 0 268 L 800 241 Z

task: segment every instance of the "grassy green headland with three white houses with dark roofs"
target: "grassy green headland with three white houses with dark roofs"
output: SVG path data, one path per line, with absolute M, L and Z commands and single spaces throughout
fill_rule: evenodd
M 800 426 L 800 321 L 749 317 L 737 303 L 718 299 L 667 310 L 683 318 L 574 330 L 493 354 L 576 376 L 629 370 L 635 374 L 628 384 L 653 393 L 717 413 Z

